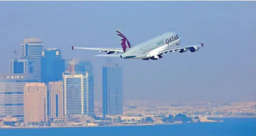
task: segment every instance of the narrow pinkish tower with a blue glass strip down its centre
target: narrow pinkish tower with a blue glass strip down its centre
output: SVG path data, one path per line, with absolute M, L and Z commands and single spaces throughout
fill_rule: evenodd
M 63 116 L 63 84 L 62 82 L 49 82 L 50 118 L 64 120 Z

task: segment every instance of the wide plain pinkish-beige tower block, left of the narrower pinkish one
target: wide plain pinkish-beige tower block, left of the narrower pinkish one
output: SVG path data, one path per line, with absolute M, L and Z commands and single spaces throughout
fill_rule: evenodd
M 47 86 L 27 83 L 24 88 L 24 123 L 47 120 Z

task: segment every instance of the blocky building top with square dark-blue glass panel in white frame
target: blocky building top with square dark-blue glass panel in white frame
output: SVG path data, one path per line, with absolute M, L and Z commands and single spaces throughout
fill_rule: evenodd
M 34 60 L 33 59 L 14 59 L 10 64 L 11 74 L 33 74 Z

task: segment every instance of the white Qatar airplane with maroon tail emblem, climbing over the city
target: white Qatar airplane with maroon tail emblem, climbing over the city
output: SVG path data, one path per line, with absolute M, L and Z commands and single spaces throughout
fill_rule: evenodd
M 103 57 L 120 57 L 122 59 L 142 59 L 142 60 L 157 60 L 162 58 L 162 55 L 168 52 L 178 51 L 180 53 L 190 50 L 190 52 L 196 52 L 203 47 L 204 44 L 196 45 L 180 45 L 181 38 L 175 32 L 166 32 L 150 40 L 142 42 L 138 45 L 131 45 L 126 36 L 116 30 L 117 35 L 120 38 L 122 48 L 86 48 L 86 47 L 74 47 L 74 49 L 87 49 L 87 50 L 99 50 L 99 52 L 106 52 L 107 54 L 100 54 L 96 56 Z M 117 54 L 117 53 L 121 54 Z

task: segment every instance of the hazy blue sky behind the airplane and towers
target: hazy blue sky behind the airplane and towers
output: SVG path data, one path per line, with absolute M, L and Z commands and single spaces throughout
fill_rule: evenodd
M 72 45 L 121 48 L 116 28 L 133 45 L 175 31 L 182 44 L 205 46 L 157 61 L 113 59 L 123 68 L 125 99 L 256 101 L 255 7 L 255 1 L 1 1 L 0 73 L 9 72 L 11 52 L 24 38 L 40 37 L 64 58 L 91 60 L 97 100 L 106 59 Z

